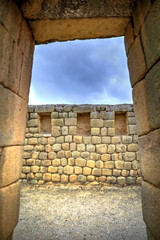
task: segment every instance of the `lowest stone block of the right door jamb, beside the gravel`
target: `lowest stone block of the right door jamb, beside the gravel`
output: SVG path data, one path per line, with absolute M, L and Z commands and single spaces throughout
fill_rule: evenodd
M 155 239 L 160 239 L 160 189 L 142 181 L 143 219 Z

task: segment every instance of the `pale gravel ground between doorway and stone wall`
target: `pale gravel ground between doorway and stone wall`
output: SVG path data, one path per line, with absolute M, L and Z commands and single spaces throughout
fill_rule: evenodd
M 22 185 L 14 240 L 147 240 L 138 186 Z

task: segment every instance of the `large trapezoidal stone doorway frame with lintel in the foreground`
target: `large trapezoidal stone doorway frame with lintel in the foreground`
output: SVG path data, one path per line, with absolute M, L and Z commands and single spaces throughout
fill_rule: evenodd
M 125 39 L 133 88 L 143 219 L 148 239 L 160 239 L 159 23 L 159 0 L 0 1 L 0 240 L 12 239 L 18 222 L 35 44 L 116 36 Z

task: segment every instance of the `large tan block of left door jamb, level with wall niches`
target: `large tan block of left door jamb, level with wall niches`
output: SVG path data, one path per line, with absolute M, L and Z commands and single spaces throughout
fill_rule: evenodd
M 0 86 L 0 146 L 23 144 L 26 110 L 27 102 Z

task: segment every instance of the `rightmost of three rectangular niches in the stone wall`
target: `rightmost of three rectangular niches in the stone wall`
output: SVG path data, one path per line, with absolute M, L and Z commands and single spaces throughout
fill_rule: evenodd
M 115 113 L 115 134 L 127 135 L 127 116 L 126 112 Z

